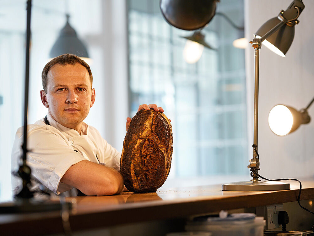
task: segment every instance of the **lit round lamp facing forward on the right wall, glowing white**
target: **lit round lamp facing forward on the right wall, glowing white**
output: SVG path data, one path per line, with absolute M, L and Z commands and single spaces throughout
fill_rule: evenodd
M 284 136 L 295 131 L 301 124 L 308 124 L 311 117 L 307 113 L 307 109 L 313 103 L 312 101 L 305 109 L 300 111 L 286 105 L 276 105 L 272 108 L 268 115 L 268 124 L 270 129 L 279 136 Z

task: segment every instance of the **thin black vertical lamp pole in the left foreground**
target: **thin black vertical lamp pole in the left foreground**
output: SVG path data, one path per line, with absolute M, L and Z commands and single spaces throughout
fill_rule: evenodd
M 24 94 L 24 133 L 23 133 L 23 164 L 19 167 L 18 174 L 23 180 L 23 188 L 17 197 L 31 198 L 33 193 L 29 190 L 30 184 L 30 167 L 26 165 L 27 155 L 27 110 L 28 110 L 28 90 L 29 90 L 29 76 L 30 76 L 30 12 L 32 1 L 27 0 L 27 22 L 26 22 L 26 65 L 25 65 L 25 94 Z

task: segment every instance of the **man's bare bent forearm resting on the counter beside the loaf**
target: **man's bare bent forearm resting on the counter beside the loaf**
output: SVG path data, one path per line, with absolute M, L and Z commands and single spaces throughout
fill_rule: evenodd
M 123 178 L 113 168 L 82 160 L 71 166 L 61 179 L 78 188 L 86 195 L 120 194 L 124 188 Z

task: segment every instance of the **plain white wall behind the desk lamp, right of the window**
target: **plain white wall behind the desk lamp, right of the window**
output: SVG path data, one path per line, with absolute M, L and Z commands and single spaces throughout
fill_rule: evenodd
M 264 22 L 285 10 L 292 0 L 246 0 L 246 37 Z M 311 177 L 314 175 L 314 104 L 308 113 L 310 124 L 301 125 L 295 132 L 279 137 L 268 127 L 268 114 L 274 105 L 286 104 L 297 110 L 305 108 L 314 96 L 314 1 L 305 0 L 305 9 L 300 14 L 300 23 L 295 26 L 294 41 L 280 57 L 265 46 L 260 49 L 258 152 L 261 171 L 266 178 Z M 253 143 L 254 102 L 254 49 L 246 49 L 248 138 Z M 252 148 L 251 148 L 252 149 Z M 253 151 L 249 151 L 251 158 Z M 248 158 L 248 159 L 249 159 Z

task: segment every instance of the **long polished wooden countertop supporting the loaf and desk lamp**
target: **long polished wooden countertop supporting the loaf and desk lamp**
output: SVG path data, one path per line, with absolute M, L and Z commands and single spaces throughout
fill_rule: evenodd
M 76 202 L 70 213 L 75 230 L 109 227 L 118 224 L 150 220 L 182 218 L 220 210 L 250 208 L 297 201 L 299 183 L 290 183 L 290 190 L 281 191 L 221 191 L 221 185 L 183 188 L 160 188 L 156 193 L 125 192 L 115 196 L 68 198 Z M 294 183 L 295 182 L 295 183 Z M 314 199 L 314 182 L 302 182 L 301 200 Z M 38 227 L 41 225 L 42 227 Z M 23 231 L 19 231 L 22 229 Z M 63 231 L 60 212 L 0 214 L 0 232 L 33 234 Z

